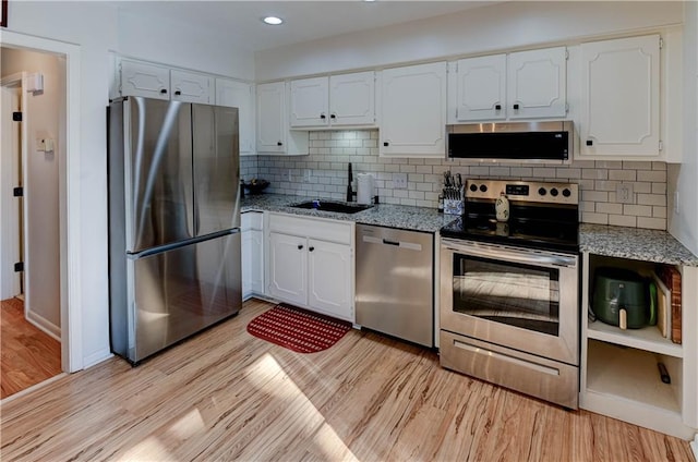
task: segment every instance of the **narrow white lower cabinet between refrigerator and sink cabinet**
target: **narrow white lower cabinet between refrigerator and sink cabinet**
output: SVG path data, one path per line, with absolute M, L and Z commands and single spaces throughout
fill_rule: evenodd
M 261 211 L 242 214 L 242 299 L 264 294 L 264 231 Z

